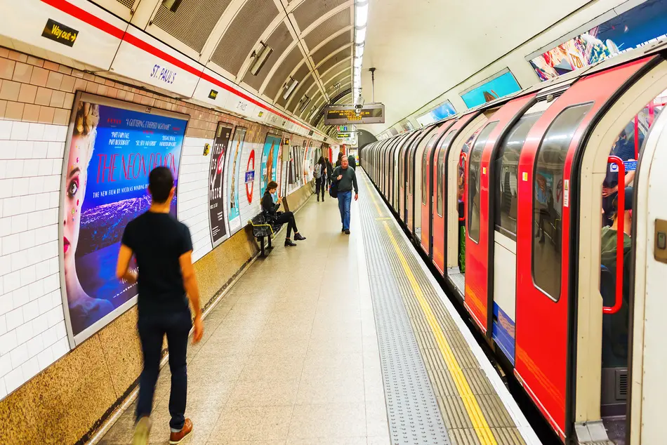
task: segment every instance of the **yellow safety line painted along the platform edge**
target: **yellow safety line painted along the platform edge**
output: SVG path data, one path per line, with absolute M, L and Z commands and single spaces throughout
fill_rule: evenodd
M 371 199 L 373 200 L 373 203 L 375 204 L 379 212 L 380 207 L 378 206 L 378 203 L 374 197 L 374 193 L 371 191 L 371 193 L 369 194 L 371 195 Z M 445 364 L 447 364 L 447 369 L 449 369 L 451 377 L 454 379 L 456 390 L 458 390 L 458 395 L 463 400 L 465 411 L 468 412 L 468 417 L 470 417 L 470 422 L 473 423 L 473 428 L 475 429 L 477 438 L 480 439 L 480 443 L 482 445 L 498 445 L 498 442 L 496 441 L 493 432 L 491 432 L 489 423 L 487 423 L 487 419 L 484 418 L 482 409 L 480 409 L 480 404 L 477 403 L 477 398 L 475 397 L 475 394 L 473 394 L 473 391 L 470 390 L 470 384 L 468 383 L 468 380 L 465 378 L 465 375 L 463 374 L 461 365 L 458 364 L 456 357 L 454 357 L 454 352 L 452 352 L 451 347 L 447 342 L 447 338 L 444 337 L 442 328 L 440 328 L 440 324 L 438 324 L 437 319 L 435 318 L 435 314 L 433 313 L 430 305 L 428 304 L 428 301 L 424 297 L 424 294 L 421 291 L 421 286 L 419 286 L 419 284 L 417 283 L 417 279 L 412 273 L 412 270 L 408 265 L 408 262 L 405 256 L 403 255 L 403 252 L 399 248 L 398 243 L 396 242 L 396 239 L 394 237 L 394 234 L 392 234 L 389 225 L 386 221 L 383 221 L 382 224 L 385 227 L 385 231 L 389 236 L 392 246 L 394 246 L 394 251 L 396 252 L 396 255 L 398 256 L 399 262 L 403 267 L 405 275 L 408 281 L 410 282 L 410 285 L 412 286 L 412 290 L 414 291 L 414 294 L 419 302 L 419 305 L 421 306 L 421 310 L 423 311 L 426 317 L 426 321 L 428 321 L 428 326 L 430 326 L 431 331 L 435 336 L 435 342 L 437 343 L 438 349 L 440 350 L 440 354 L 442 354 L 442 358 L 444 359 Z

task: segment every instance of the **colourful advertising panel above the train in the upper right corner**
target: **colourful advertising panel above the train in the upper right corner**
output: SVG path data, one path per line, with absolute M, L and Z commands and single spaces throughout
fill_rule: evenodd
M 650 44 L 667 33 L 667 1 L 647 0 L 530 60 L 541 81 Z

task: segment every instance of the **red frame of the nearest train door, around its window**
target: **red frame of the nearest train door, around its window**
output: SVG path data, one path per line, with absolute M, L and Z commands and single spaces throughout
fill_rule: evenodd
M 519 159 L 517 210 L 517 314 L 515 375 L 535 401 L 543 416 L 562 440 L 573 434 L 576 396 L 576 171 L 575 157 L 581 157 L 587 133 L 594 119 L 600 119 L 605 105 L 623 91 L 630 79 L 647 65 L 635 60 L 576 81 L 551 105 L 531 128 Z M 555 121 L 575 107 L 588 107 L 574 121 L 562 170 L 563 192 L 560 209 L 560 291 L 548 295 L 534 281 L 534 178 L 539 150 Z M 583 110 L 583 108 L 581 108 Z M 557 138 L 553 139 L 557 141 Z M 560 138 L 562 140 L 562 138 Z M 556 143 L 556 142 L 551 142 Z M 553 147 L 551 148 L 553 150 Z M 553 182 L 556 182 L 555 178 Z M 570 185 L 571 184 L 571 185 Z M 557 186 L 557 184 L 554 184 Z M 572 199 L 570 199 L 572 197 Z M 574 207 L 574 208 L 573 208 Z M 557 233 L 557 232 L 556 232 Z M 558 240 L 557 240 L 558 241 Z M 571 253 L 572 252 L 572 253 Z

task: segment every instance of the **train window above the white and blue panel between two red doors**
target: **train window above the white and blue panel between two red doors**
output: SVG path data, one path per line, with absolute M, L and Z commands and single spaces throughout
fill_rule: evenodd
M 528 132 L 542 112 L 526 114 L 508 133 L 498 147 L 496 165 L 496 187 L 494 192 L 494 222 L 496 230 L 517 240 L 517 185 L 519 178 L 519 155 Z

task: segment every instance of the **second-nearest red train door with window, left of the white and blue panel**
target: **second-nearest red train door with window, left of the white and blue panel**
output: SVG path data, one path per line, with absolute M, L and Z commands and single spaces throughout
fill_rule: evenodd
M 489 184 L 493 181 L 494 150 L 505 132 L 534 102 L 534 95 L 526 95 L 507 102 L 489 118 L 482 128 L 468 154 L 465 177 L 465 206 L 467 215 L 465 227 L 465 307 L 491 338 L 493 320 L 493 263 L 489 263 L 489 251 L 494 247 L 493 232 L 490 229 L 491 199 Z M 491 258 L 493 258 L 491 256 Z

